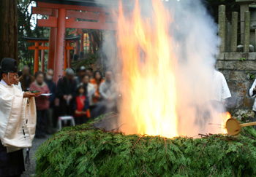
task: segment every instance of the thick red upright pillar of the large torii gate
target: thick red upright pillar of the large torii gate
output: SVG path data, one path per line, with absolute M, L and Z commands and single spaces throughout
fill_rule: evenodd
M 66 36 L 66 9 L 59 9 L 57 22 L 57 40 L 54 61 L 54 81 L 58 82 L 59 78 L 64 74 L 64 52 L 65 52 L 65 36 Z

